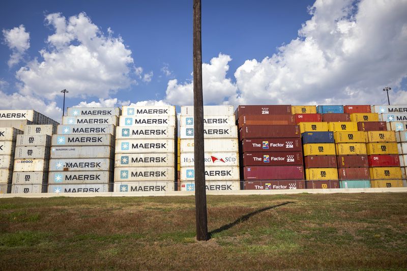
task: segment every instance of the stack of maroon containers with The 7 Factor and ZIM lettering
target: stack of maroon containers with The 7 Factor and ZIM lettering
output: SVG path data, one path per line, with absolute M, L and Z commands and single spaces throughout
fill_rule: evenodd
M 243 189 L 305 189 L 301 135 L 292 107 L 238 106 L 235 114 Z

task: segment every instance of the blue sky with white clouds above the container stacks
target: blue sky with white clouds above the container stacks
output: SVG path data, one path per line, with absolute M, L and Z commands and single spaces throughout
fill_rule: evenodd
M 192 1 L 7 1 L 0 26 L 1 108 L 191 104 Z M 204 99 L 407 103 L 406 45 L 404 0 L 202 1 Z

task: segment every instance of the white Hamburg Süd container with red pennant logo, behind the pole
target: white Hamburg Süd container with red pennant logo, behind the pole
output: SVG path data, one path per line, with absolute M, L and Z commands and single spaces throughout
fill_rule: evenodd
M 239 166 L 238 153 L 205 153 L 205 166 Z M 182 153 L 179 159 L 182 167 L 194 166 L 194 153 Z

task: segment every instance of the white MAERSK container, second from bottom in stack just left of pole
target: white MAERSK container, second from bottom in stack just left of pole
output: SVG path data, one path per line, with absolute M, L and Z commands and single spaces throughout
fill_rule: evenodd
M 173 181 L 174 167 L 117 167 L 114 182 Z

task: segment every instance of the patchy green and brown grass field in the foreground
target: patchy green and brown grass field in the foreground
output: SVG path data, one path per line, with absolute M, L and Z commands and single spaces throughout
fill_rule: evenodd
M 0 199 L 0 269 L 405 269 L 407 194 Z

